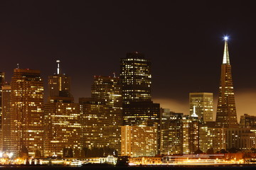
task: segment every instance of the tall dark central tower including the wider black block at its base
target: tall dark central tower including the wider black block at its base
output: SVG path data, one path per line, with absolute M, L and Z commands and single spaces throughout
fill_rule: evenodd
M 151 62 L 142 53 L 129 52 L 120 64 L 124 125 L 159 123 L 159 104 L 151 101 Z

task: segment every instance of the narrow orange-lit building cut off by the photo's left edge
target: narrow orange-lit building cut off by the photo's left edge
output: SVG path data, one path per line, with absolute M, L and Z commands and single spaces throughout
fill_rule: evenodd
M 2 106 L 2 119 L 1 130 L 3 152 L 11 152 L 11 86 L 4 84 L 1 87 L 1 106 Z

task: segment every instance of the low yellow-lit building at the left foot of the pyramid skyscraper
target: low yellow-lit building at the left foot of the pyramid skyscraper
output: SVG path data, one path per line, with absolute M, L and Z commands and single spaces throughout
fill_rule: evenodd
M 214 152 L 226 149 L 225 128 L 202 126 L 199 134 L 201 151 L 206 153 L 210 148 L 213 148 Z

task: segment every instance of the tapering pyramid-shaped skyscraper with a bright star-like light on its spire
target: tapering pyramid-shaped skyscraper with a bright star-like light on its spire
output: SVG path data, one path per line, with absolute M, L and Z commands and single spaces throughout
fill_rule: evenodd
M 221 64 L 216 126 L 223 128 L 238 128 L 227 37 L 225 37 L 223 64 Z

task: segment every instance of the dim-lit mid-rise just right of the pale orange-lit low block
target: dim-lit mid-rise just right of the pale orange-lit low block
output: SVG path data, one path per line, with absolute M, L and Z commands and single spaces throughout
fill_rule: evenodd
M 161 154 L 182 154 L 183 150 L 183 113 L 161 109 Z

